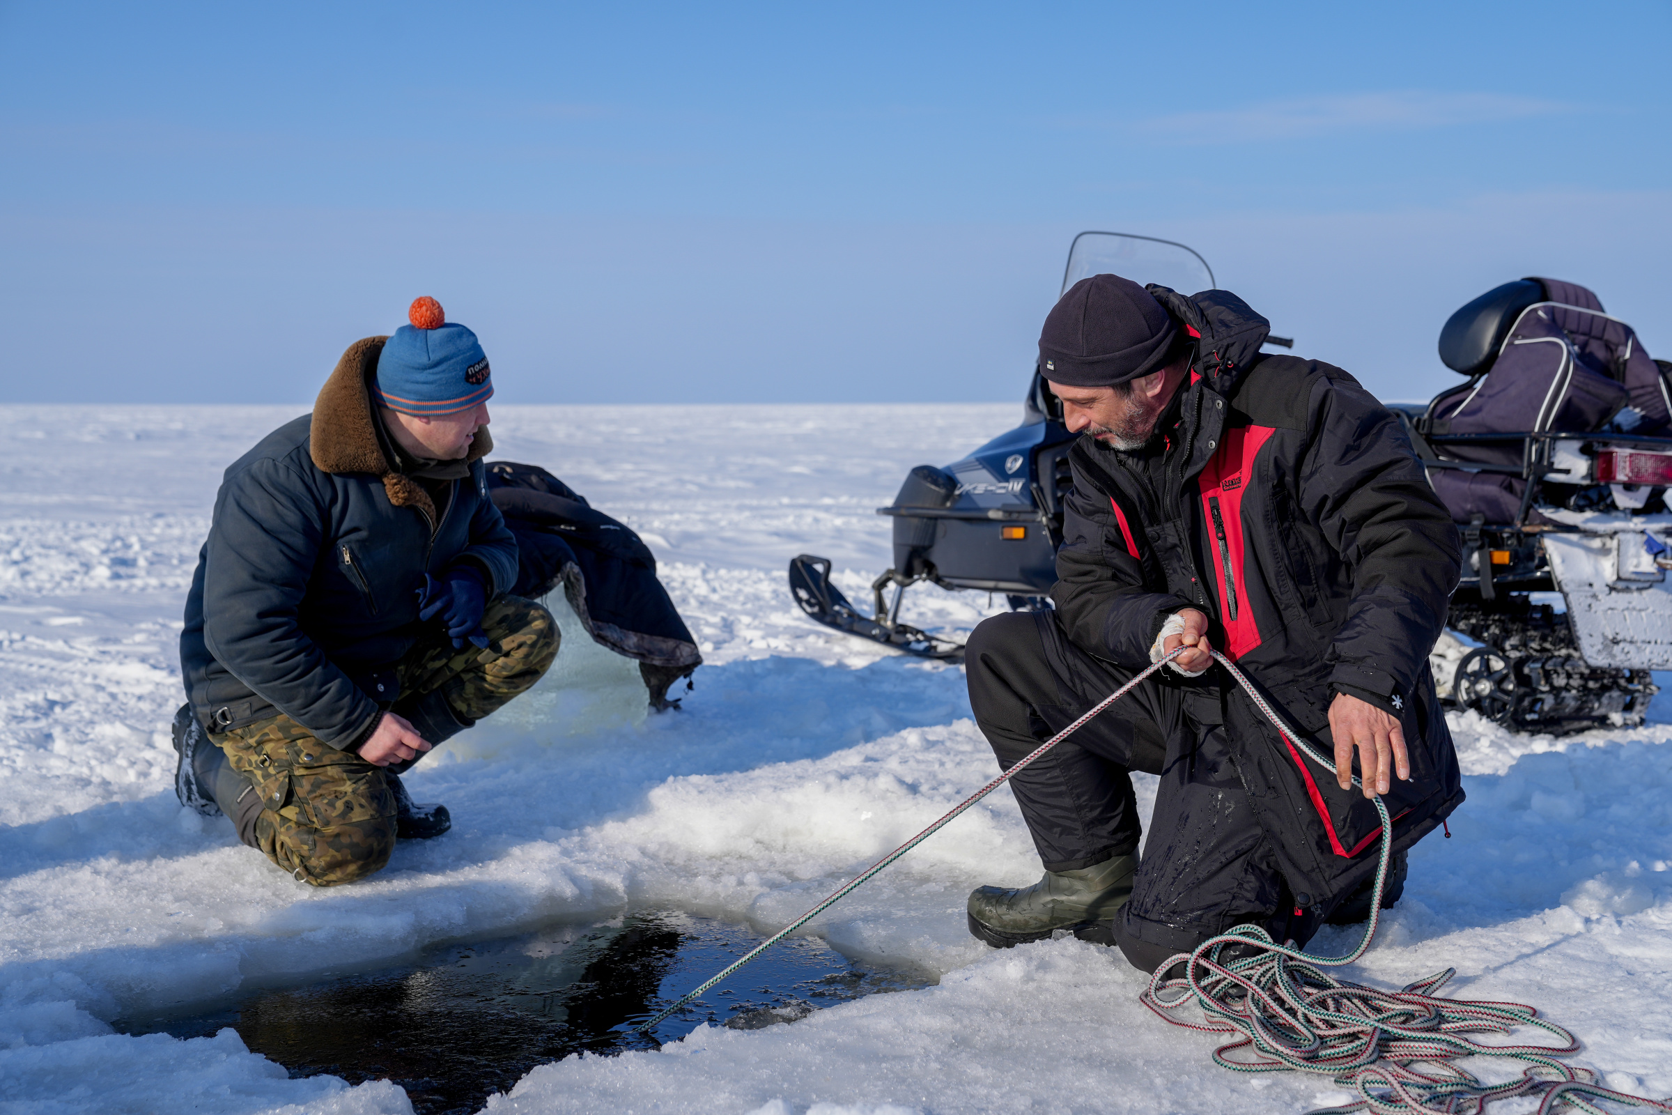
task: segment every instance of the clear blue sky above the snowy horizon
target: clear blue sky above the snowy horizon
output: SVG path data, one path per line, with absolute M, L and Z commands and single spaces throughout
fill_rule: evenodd
M 0 400 L 306 405 L 433 294 L 500 401 L 1015 400 L 1070 237 L 1384 398 L 1523 274 L 1672 354 L 1659 3 L 0 3 Z

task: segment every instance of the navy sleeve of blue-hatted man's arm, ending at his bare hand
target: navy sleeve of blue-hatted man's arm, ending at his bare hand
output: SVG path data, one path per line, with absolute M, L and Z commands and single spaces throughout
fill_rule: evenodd
M 257 458 L 229 475 L 204 547 L 204 642 L 264 700 L 321 742 L 346 747 L 378 705 L 299 622 L 324 522 L 311 478 L 283 458 Z

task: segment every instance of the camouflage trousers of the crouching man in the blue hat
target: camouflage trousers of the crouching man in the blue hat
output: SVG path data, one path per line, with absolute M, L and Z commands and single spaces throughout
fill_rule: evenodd
M 440 634 L 420 640 L 396 667 L 401 702 L 440 689 L 460 720 L 480 720 L 557 659 L 557 622 L 532 600 L 495 597 L 482 629 L 485 650 L 455 650 Z M 209 739 L 261 794 L 254 839 L 268 859 L 314 886 L 353 883 L 390 861 L 395 794 L 383 767 L 321 744 L 283 714 Z

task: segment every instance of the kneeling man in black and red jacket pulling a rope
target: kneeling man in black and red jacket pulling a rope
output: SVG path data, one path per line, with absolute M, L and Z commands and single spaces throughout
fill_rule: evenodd
M 1057 608 L 975 630 L 976 720 L 1008 769 L 1189 649 L 1012 779 L 1045 878 L 970 896 L 991 944 L 1073 929 L 1145 971 L 1244 921 L 1304 944 L 1366 901 L 1374 794 L 1401 858 L 1463 801 L 1428 670 L 1458 582 L 1451 515 L 1388 410 L 1339 368 L 1261 353 L 1266 333 L 1227 291 L 1112 274 L 1045 319 L 1040 374 L 1082 433 Z M 1160 776 L 1142 859 L 1132 771 Z

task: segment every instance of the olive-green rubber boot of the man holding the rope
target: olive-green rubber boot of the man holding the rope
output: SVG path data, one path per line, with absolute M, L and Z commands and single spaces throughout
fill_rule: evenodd
M 970 933 L 993 948 L 1040 941 L 1070 929 L 1083 941 L 1114 944 L 1114 919 L 1132 898 L 1137 856 L 1110 856 L 1077 871 L 1047 871 L 1033 886 L 981 886 L 970 894 Z

